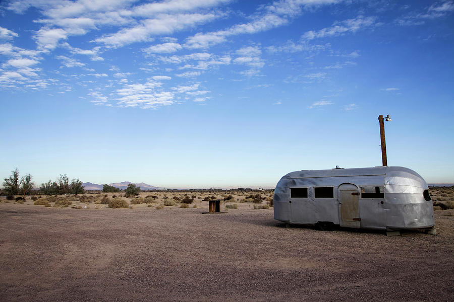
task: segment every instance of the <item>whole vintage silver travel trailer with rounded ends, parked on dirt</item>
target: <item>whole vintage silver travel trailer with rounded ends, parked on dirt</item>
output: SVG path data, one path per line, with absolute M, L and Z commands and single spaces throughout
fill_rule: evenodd
M 404 167 L 302 170 L 274 190 L 274 219 L 379 230 L 435 225 L 429 187 Z

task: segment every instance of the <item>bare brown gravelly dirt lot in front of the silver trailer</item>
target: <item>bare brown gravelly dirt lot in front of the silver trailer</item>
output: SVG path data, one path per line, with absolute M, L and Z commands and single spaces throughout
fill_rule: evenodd
M 0 203 L 2 301 L 454 300 L 454 210 L 436 236 L 285 228 L 272 208 Z

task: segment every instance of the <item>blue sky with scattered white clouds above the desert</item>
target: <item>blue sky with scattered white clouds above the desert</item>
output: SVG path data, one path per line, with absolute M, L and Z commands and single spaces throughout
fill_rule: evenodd
M 381 165 L 454 183 L 454 2 L 0 2 L 0 177 L 272 188 Z

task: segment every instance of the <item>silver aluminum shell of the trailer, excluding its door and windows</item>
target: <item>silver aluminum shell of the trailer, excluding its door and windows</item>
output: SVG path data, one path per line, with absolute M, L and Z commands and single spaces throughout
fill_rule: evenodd
M 372 167 L 334 170 L 304 170 L 288 173 L 274 191 L 274 218 L 311 224 L 339 224 L 339 193 L 342 184 L 384 187 L 384 198 L 359 199 L 361 228 L 427 228 L 435 224 L 431 201 L 423 197 L 427 183 L 404 167 Z M 314 187 L 333 187 L 334 198 L 314 198 Z M 290 188 L 307 187 L 308 198 L 290 197 Z M 291 201 L 291 202 L 290 202 Z

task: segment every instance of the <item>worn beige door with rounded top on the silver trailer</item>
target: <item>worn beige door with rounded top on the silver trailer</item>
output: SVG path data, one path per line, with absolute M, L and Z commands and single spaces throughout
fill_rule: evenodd
M 348 228 L 360 228 L 359 190 L 356 185 L 342 184 L 339 186 L 339 224 Z

